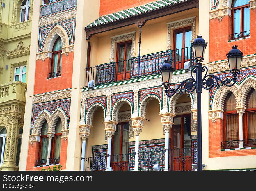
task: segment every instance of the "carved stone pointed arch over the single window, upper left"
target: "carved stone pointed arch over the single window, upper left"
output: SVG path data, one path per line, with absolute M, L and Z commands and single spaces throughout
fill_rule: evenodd
M 66 47 L 67 39 L 68 39 L 66 31 L 61 25 L 57 24 L 49 32 L 49 35 L 47 36 L 47 38 L 45 40 L 44 51 L 52 51 L 52 47 L 54 45 L 55 40 L 58 38 L 58 36 L 61 37 L 62 47 Z

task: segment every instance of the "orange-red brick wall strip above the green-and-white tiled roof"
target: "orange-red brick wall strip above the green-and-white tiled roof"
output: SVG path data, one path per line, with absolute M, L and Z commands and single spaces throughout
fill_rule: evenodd
M 152 0 L 100 0 L 99 16 L 108 15 L 117 11 L 133 8 L 138 5 L 144 5 L 153 2 Z

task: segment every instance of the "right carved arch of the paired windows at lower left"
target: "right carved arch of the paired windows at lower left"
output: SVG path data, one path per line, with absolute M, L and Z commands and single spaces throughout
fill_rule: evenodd
M 61 110 L 60 108 L 57 108 L 52 113 L 51 118 L 50 118 L 52 133 L 55 133 L 55 127 L 56 127 L 56 123 L 57 123 L 58 119 L 61 119 L 61 124 L 62 124 L 61 130 L 67 129 L 67 117 L 63 110 Z

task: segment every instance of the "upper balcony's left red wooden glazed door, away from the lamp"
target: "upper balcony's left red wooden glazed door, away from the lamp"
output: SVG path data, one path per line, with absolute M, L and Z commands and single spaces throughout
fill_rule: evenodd
M 117 44 L 116 81 L 131 76 L 131 41 Z

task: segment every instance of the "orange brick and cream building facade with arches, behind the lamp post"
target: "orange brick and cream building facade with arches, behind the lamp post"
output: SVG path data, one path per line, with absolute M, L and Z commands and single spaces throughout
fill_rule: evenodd
M 255 3 L 34 3 L 19 169 L 195 170 L 197 96 L 168 97 L 159 69 L 172 60 L 173 87 L 189 78 L 197 34 L 222 79 L 231 46 L 245 55 L 235 86 L 202 92 L 204 170 L 254 169 Z

